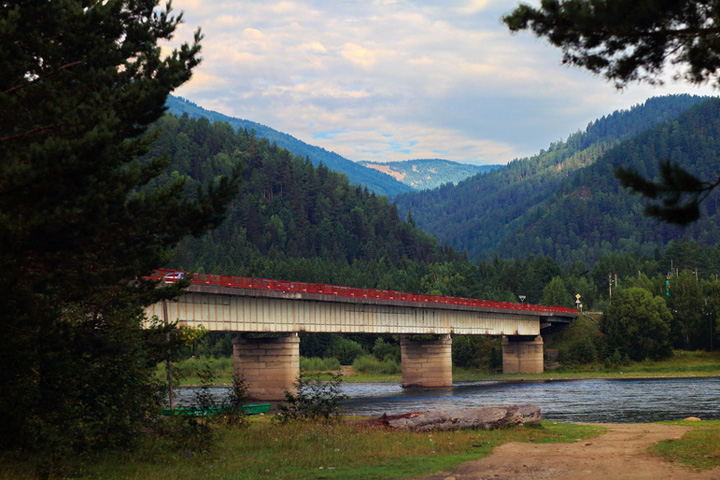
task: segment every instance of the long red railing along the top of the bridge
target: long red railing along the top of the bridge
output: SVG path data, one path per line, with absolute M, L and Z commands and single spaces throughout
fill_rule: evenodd
M 175 282 L 187 275 L 178 270 L 155 270 L 150 277 L 153 280 Z M 466 305 L 471 307 L 498 308 L 503 310 L 522 310 L 528 312 L 551 312 L 576 315 L 578 311 L 568 307 L 549 307 L 543 305 L 530 305 L 527 303 L 495 302 L 475 298 L 448 297 L 445 295 L 427 295 L 420 293 L 396 292 L 393 290 L 378 290 L 375 288 L 341 287 L 323 283 L 291 282 L 287 280 L 269 280 L 267 278 L 234 277 L 228 275 L 213 275 L 195 273 L 191 280 L 193 285 L 218 285 L 222 287 L 243 288 L 249 290 L 273 290 L 278 292 L 317 293 L 321 295 L 335 295 L 350 298 L 374 298 L 379 300 L 395 300 L 417 303 L 439 303 L 450 305 Z

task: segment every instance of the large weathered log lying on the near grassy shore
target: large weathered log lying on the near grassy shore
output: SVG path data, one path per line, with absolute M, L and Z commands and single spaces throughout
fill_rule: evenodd
M 510 405 L 507 407 L 452 408 L 431 412 L 383 415 L 372 419 L 371 425 L 418 432 L 432 430 L 458 430 L 481 428 L 485 430 L 508 425 L 538 423 L 542 419 L 540 407 L 535 405 Z

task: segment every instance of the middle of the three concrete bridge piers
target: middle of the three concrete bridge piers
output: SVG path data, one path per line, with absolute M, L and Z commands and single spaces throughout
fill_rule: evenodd
M 452 386 L 452 338 L 400 340 L 403 387 Z

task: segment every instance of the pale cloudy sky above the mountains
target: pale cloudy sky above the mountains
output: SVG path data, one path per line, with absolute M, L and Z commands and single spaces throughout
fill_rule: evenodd
M 533 3 L 528 2 L 528 3 Z M 650 97 L 709 86 L 612 83 L 500 18 L 509 0 L 174 0 L 202 63 L 174 92 L 353 161 L 505 164 Z

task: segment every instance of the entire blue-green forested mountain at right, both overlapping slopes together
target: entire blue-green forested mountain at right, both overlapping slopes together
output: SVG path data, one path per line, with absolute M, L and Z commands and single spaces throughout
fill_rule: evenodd
M 679 238 L 678 229 L 643 218 L 637 200 L 614 179 L 613 167 L 632 166 L 652 177 L 657 159 L 667 155 L 697 165 L 701 178 L 713 175 L 720 151 L 713 126 L 717 110 L 715 99 L 652 98 L 598 119 L 533 157 L 395 201 L 401 216 L 412 210 L 419 227 L 473 259 L 536 255 L 591 266 L 611 251 L 651 256 Z M 708 214 L 716 211 L 711 202 L 706 208 Z M 688 234 L 712 245 L 720 240 L 717 230 L 717 221 L 708 218 Z

